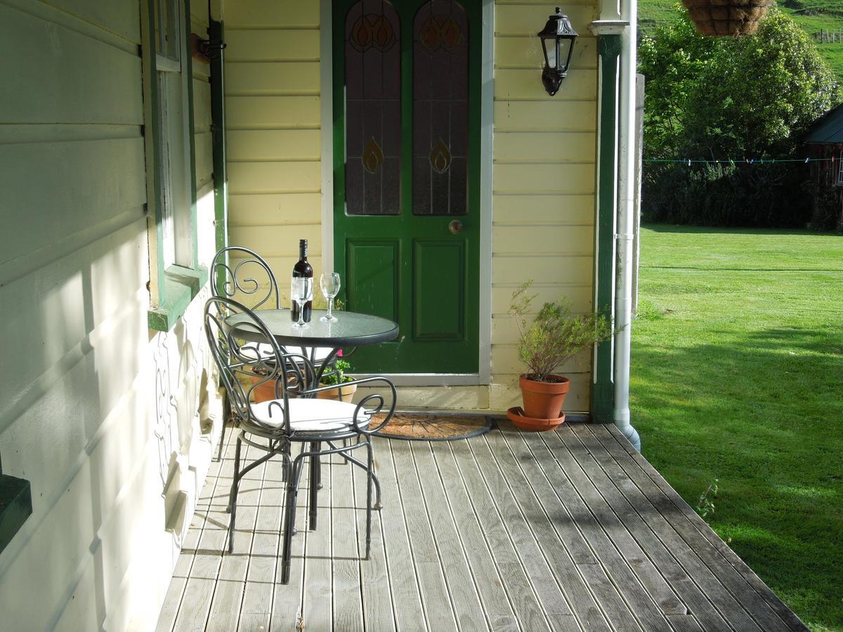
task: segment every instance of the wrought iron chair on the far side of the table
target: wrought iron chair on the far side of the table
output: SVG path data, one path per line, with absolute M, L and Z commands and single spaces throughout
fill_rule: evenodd
M 280 309 L 281 292 L 278 281 L 266 260 L 244 246 L 226 246 L 217 250 L 211 263 L 211 290 L 215 297 L 233 298 L 252 310 Z M 261 349 L 271 354 L 271 349 Z M 288 347 L 284 352 L 307 356 L 315 366 L 325 362 L 332 349 L 328 347 Z M 333 360 L 330 366 L 333 366 Z M 230 415 L 225 415 L 228 419 Z M 219 442 L 217 460 L 222 457 L 225 426 Z

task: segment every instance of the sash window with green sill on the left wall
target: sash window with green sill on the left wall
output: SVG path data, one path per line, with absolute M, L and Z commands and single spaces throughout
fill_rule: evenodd
M 141 8 L 148 326 L 169 331 L 207 282 L 207 269 L 199 265 L 196 221 L 191 0 L 142 0 Z M 169 16 L 169 35 L 158 28 L 162 11 Z M 180 142 L 170 147 L 174 133 Z M 178 187 L 174 186 L 176 182 Z M 174 191 L 180 191 L 180 195 L 174 198 Z

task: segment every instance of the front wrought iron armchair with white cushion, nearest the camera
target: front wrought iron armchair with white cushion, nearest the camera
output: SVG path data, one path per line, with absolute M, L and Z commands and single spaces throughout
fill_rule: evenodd
M 244 314 L 231 329 L 225 319 Z M 334 399 L 316 399 L 319 391 L 333 387 L 310 388 L 314 367 L 300 354 L 282 351 L 257 313 L 244 305 L 223 297 L 212 297 L 205 305 L 205 330 L 208 345 L 228 391 L 231 409 L 239 434 L 234 451 L 234 480 L 229 495 L 231 522 L 228 526 L 228 552 L 234 549 L 234 522 L 237 517 L 237 494 L 240 479 L 251 469 L 274 456 L 284 459 L 285 509 L 282 517 L 282 583 L 290 576 L 291 543 L 294 533 L 296 500 L 302 469 L 310 464 L 309 526 L 316 528 L 316 495 L 319 490 L 319 459 L 330 454 L 366 471 L 366 559 L 371 549 L 372 509 L 379 509 L 380 485 L 374 474 L 371 436 L 382 429 L 395 412 L 395 385 L 387 378 L 363 378 L 354 383 L 382 385 L 387 394 L 369 394 L 358 404 Z M 266 353 L 266 349 L 271 354 Z M 256 383 L 244 387 L 245 379 L 260 376 Z M 277 399 L 255 404 L 252 390 L 261 383 L 272 383 Z M 291 397 L 291 394 L 294 396 Z M 373 424 L 373 415 L 384 412 L 384 419 Z M 343 442 L 342 445 L 338 445 Z M 246 443 L 266 454 L 241 467 L 241 446 Z M 292 457 L 292 445 L 302 445 Z M 365 463 L 352 456 L 357 449 L 366 451 Z M 251 454 L 251 452 L 250 452 Z M 373 491 L 376 502 L 373 505 Z

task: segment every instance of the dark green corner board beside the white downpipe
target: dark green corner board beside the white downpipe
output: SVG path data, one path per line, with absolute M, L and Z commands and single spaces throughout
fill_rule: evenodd
M 600 35 L 600 114 L 598 121 L 597 206 L 595 209 L 597 276 L 594 309 L 612 313 L 615 283 L 615 206 L 617 203 L 618 59 L 620 35 Z M 612 343 L 597 345 L 591 414 L 594 421 L 609 423 L 615 409 L 612 380 Z

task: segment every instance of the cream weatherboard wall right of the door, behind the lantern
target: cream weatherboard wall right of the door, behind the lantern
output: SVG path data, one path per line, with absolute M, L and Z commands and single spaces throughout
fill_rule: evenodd
M 518 285 L 534 280 L 536 307 L 568 297 L 576 312 L 593 302 L 594 190 L 597 147 L 597 40 L 588 24 L 595 3 L 559 3 L 579 33 L 571 70 L 554 97 L 541 83 L 535 34 L 552 3 L 497 0 L 495 6 L 494 173 L 492 182 L 492 410 L 520 403 L 515 346 L 507 314 Z M 572 380 L 565 409 L 588 410 L 591 356 L 563 367 Z

